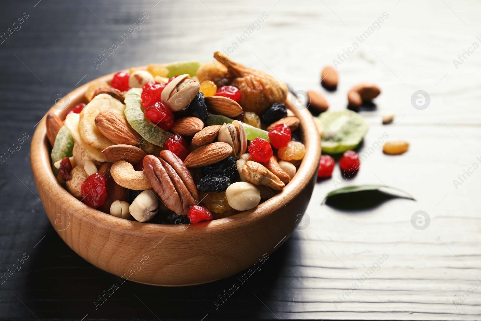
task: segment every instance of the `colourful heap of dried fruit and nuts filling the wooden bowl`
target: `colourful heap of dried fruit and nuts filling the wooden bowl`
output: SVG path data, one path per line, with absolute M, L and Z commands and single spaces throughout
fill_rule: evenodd
M 57 180 L 92 208 L 162 224 L 228 217 L 282 190 L 305 153 L 287 87 L 214 57 L 116 73 L 64 121 L 49 114 Z

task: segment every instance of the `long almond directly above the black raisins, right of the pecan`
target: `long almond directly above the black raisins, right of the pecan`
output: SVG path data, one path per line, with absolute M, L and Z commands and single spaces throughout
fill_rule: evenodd
M 197 168 L 212 165 L 232 154 L 232 147 L 226 142 L 213 142 L 192 151 L 184 161 L 186 167 Z

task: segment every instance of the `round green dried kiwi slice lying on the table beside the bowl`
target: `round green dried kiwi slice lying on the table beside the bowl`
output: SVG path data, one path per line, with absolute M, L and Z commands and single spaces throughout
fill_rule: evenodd
M 338 154 L 356 148 L 369 130 L 364 118 L 351 110 L 327 111 L 319 115 L 324 128 L 322 152 Z

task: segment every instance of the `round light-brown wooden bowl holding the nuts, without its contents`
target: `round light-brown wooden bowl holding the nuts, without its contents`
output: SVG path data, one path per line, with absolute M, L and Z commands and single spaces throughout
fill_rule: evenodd
M 113 75 L 96 80 L 110 83 Z M 49 112 L 63 118 L 77 103 L 86 103 L 88 86 L 68 94 L 67 108 L 58 110 L 54 105 Z M 130 281 L 183 286 L 213 282 L 245 270 L 286 242 L 296 220 L 304 215 L 316 182 L 321 147 L 314 121 L 307 109 L 287 105 L 301 121 L 300 136 L 306 147 L 291 182 L 252 210 L 190 225 L 140 223 L 79 202 L 53 176 L 44 117 L 32 139 L 30 161 L 45 212 L 63 241 L 79 256 Z

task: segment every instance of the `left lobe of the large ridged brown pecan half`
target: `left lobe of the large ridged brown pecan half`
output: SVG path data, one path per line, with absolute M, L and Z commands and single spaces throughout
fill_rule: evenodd
M 179 194 L 160 160 L 154 155 L 147 155 L 144 157 L 143 164 L 144 172 L 147 175 L 153 190 L 155 193 L 159 194 L 160 199 L 164 202 L 165 206 L 176 212 L 177 215 L 182 214 L 183 207 L 180 203 Z

